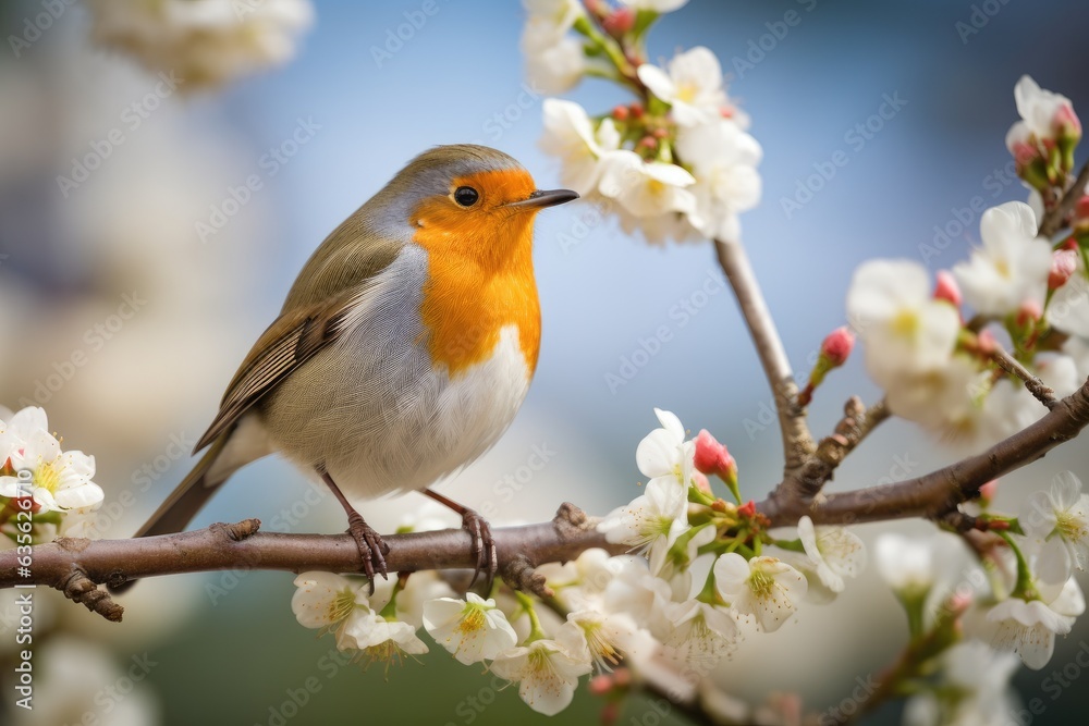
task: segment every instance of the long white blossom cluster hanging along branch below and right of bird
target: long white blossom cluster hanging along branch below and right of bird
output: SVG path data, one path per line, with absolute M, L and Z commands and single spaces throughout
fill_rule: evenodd
M 855 534 L 808 517 L 769 531 L 754 503 L 742 504 L 726 447 L 706 430 L 687 439 L 676 416 L 656 413 L 661 428 L 636 450 L 643 494 L 599 524 L 631 554 L 594 549 L 541 566 L 555 593 L 547 605 L 503 585 L 489 598 L 458 598 L 435 573 L 378 583 L 374 594 L 364 579 L 305 573 L 296 618 L 332 632 L 340 650 L 386 663 L 427 652 L 424 628 L 458 662 L 486 663 L 530 707 L 554 714 L 595 669 L 659 662 L 708 675 L 746 633 L 779 630 L 807 598 L 828 602 L 861 571 Z M 733 502 L 713 494 L 709 477 Z

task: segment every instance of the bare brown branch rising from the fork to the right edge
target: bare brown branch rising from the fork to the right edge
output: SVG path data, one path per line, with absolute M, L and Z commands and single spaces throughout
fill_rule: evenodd
M 1030 464 L 1089 426 L 1089 380 L 1055 402 L 1048 414 L 1027 429 L 982 454 L 970 456 L 916 479 L 868 489 L 815 496 L 770 496 L 757 509 L 776 526 L 809 515 L 818 525 L 849 525 L 904 517 L 938 518 L 976 496 L 990 480 Z

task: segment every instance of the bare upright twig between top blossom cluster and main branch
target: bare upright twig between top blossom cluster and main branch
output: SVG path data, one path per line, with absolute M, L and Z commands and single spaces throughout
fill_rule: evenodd
M 791 361 L 786 357 L 783 341 L 764 303 L 745 248 L 736 242 L 715 239 L 714 251 L 737 298 L 737 306 L 748 325 L 760 365 L 775 396 L 775 411 L 779 414 L 785 457 L 784 476 L 791 476 L 813 451 L 805 409 L 797 404 L 798 384 L 794 380 Z

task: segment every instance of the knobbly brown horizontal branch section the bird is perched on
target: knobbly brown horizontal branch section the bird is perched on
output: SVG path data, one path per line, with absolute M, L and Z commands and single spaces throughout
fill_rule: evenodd
M 548 595 L 533 568 L 549 562 L 574 559 L 585 550 L 602 547 L 613 554 L 627 545 L 605 542 L 597 520 L 571 504 L 560 507 L 552 521 L 493 529 L 500 573 L 512 586 Z M 285 534 L 258 532 L 260 522 L 236 525 L 131 540 L 62 538 L 33 549 L 32 564 L 19 565 L 15 550 L 0 552 L 0 588 L 39 585 L 53 587 L 109 619 L 121 619 L 121 607 L 93 586 L 119 586 L 159 575 L 223 569 L 266 569 L 303 573 L 363 571 L 359 549 L 350 534 Z M 472 538 L 462 529 L 445 529 L 383 538 L 390 571 L 472 569 L 476 558 Z M 74 586 L 78 586 L 73 590 Z M 69 590 L 73 590 L 72 593 Z M 88 594 L 97 593 L 97 594 Z M 77 596 L 76 596 L 77 595 Z

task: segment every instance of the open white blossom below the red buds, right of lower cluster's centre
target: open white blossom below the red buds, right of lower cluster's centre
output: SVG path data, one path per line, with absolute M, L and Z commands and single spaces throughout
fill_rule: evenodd
M 764 632 L 773 632 L 798 608 L 808 585 L 805 576 L 775 557 L 745 559 L 736 552 L 714 563 L 714 587 L 744 617 L 755 617 Z

